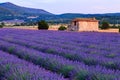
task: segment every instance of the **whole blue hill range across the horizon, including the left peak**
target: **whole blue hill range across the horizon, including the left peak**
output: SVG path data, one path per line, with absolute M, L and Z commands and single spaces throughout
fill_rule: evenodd
M 25 22 L 37 22 L 47 20 L 51 23 L 69 23 L 73 18 L 95 17 L 98 20 L 106 20 L 111 24 L 120 24 L 120 13 L 105 14 L 82 14 L 82 13 L 65 13 L 55 15 L 43 9 L 26 8 L 15 5 L 10 2 L 0 3 L 0 21 L 4 20 L 24 20 Z

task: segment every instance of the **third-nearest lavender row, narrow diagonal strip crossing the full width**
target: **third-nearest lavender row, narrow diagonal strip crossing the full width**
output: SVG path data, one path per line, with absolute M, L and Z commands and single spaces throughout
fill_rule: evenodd
M 106 58 L 97 54 L 83 54 L 82 52 L 79 52 L 79 54 L 75 53 L 72 50 L 66 50 L 66 49 L 61 49 L 57 46 L 52 46 L 49 44 L 46 44 L 48 46 L 46 46 L 45 44 L 41 43 L 34 43 L 33 41 L 29 41 L 29 40 L 24 40 L 25 38 L 21 39 L 20 38 L 15 38 L 15 39 L 8 39 L 7 38 L 0 38 L 4 41 L 8 41 L 11 43 L 16 43 L 22 46 L 26 46 L 29 48 L 33 48 L 39 51 L 42 51 L 44 53 L 51 53 L 51 54 L 55 54 L 55 55 L 59 55 L 59 56 L 63 56 L 67 59 L 73 60 L 73 61 L 83 61 L 85 64 L 87 65 L 102 65 L 105 66 L 107 68 L 111 68 L 111 69 L 120 69 L 120 60 L 119 57 L 117 56 L 114 59 L 111 58 Z M 59 51 L 59 52 L 58 52 Z M 69 53 L 69 54 L 68 54 Z

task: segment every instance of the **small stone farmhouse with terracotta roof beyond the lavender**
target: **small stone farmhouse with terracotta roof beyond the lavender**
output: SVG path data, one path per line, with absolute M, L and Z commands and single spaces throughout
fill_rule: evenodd
M 98 31 L 99 21 L 95 18 L 76 18 L 68 26 L 68 31 Z

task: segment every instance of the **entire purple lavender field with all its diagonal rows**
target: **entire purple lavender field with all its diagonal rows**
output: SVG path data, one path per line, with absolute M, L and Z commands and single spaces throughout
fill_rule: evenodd
M 0 29 L 0 80 L 120 80 L 120 34 Z

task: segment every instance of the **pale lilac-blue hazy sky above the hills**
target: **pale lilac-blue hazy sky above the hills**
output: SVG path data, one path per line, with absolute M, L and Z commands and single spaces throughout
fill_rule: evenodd
M 2 2 L 44 9 L 54 14 L 120 12 L 120 0 L 0 0 Z

